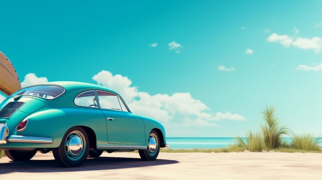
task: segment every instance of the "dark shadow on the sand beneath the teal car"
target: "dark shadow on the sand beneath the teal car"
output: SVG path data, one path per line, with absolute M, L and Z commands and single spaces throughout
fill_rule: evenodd
M 174 160 L 156 159 L 155 161 L 142 161 L 140 158 L 128 157 L 97 157 L 87 158 L 84 164 L 77 168 L 62 168 L 55 160 L 33 160 L 27 162 L 0 161 L 0 174 L 11 172 L 77 172 L 92 170 L 112 170 L 124 168 L 137 168 L 159 166 L 178 163 Z

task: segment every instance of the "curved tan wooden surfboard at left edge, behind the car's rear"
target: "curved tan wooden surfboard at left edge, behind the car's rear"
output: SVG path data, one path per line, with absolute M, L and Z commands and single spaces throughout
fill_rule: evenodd
M 10 95 L 19 89 L 21 84 L 17 72 L 6 55 L 0 51 L 0 91 Z

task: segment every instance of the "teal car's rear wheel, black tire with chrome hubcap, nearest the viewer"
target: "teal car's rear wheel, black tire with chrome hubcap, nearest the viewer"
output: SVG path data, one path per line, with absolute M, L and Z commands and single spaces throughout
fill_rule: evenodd
M 63 167 L 81 166 L 90 151 L 86 131 L 81 127 L 69 129 L 58 148 L 52 150 L 57 163 Z

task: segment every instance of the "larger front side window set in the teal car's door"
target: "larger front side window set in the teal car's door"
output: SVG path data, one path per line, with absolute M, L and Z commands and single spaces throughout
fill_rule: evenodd
M 117 94 L 105 91 L 96 91 L 101 109 L 112 109 L 129 112 L 126 106 L 120 101 Z

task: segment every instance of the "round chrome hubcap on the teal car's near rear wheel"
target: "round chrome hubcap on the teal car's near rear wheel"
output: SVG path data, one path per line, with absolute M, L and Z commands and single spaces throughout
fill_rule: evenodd
M 84 136 L 79 131 L 68 134 L 65 142 L 65 152 L 70 158 L 78 158 L 83 153 Z

